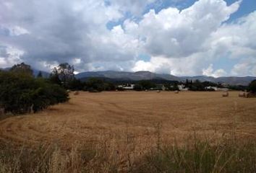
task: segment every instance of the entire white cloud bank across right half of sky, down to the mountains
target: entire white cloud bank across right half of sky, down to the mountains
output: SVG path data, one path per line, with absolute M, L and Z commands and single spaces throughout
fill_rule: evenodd
M 145 40 L 145 52 L 152 58 L 149 62 L 138 61 L 133 70 L 146 68 L 179 76 L 255 76 L 256 12 L 225 23 L 240 3 L 227 6 L 225 1 L 201 0 L 181 12 L 168 8 L 158 14 L 153 10 L 145 14 L 138 28 L 144 33 L 140 36 Z M 218 68 L 222 58 L 240 62 L 228 71 L 214 71 L 211 64 Z M 158 68 L 159 64 L 168 68 Z

